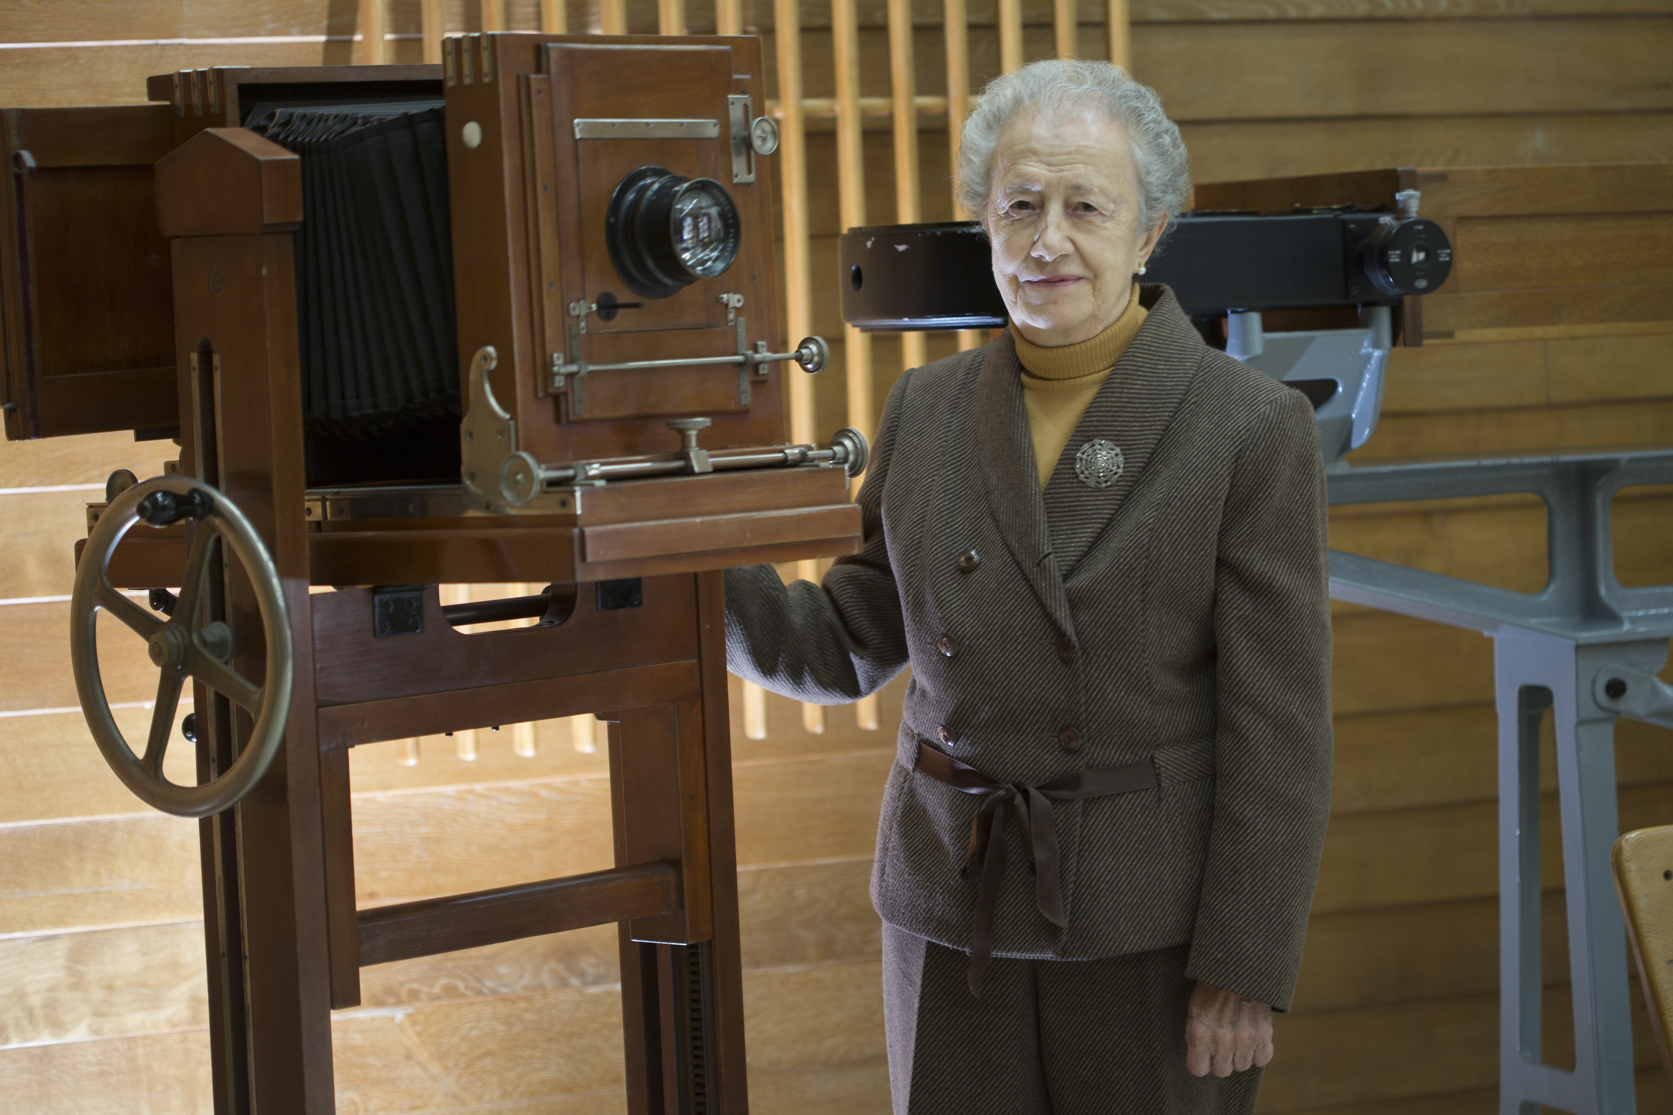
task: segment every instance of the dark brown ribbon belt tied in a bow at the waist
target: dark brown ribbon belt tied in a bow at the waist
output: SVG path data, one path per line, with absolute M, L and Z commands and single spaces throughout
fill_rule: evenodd
M 1156 761 L 1141 759 L 1119 767 L 1071 771 L 1039 786 L 995 782 L 980 771 L 918 741 L 917 769 L 937 782 L 964 794 L 979 794 L 982 804 L 970 817 L 970 846 L 960 874 L 970 878 L 970 864 L 982 863 L 982 881 L 975 893 L 975 928 L 970 931 L 970 995 L 980 998 L 982 976 L 994 958 L 994 909 L 999 906 L 999 883 L 1005 878 L 1005 806 L 1017 814 L 1022 848 L 1034 873 L 1034 901 L 1054 926 L 1064 926 L 1062 878 L 1057 873 L 1057 826 L 1051 802 L 1081 801 L 1156 789 Z M 997 832 L 994 829 L 999 829 Z

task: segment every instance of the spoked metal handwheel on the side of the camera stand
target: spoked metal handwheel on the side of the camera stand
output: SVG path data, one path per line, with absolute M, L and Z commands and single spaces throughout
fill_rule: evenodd
M 167 527 L 184 518 L 197 520 L 192 548 L 186 557 L 181 595 L 167 619 L 147 612 L 110 587 L 110 555 L 136 523 Z M 204 582 L 216 543 L 224 540 L 244 565 L 254 587 L 266 629 L 268 674 L 253 685 L 234 672 L 233 629 L 214 620 L 199 625 Z M 146 640 L 151 660 L 162 670 L 157 704 L 151 714 L 146 754 L 136 756 L 110 715 L 104 680 L 99 677 L 99 608 L 110 612 Z M 224 495 L 186 476 L 159 476 L 127 488 L 110 500 L 87 538 L 75 593 L 70 597 L 70 667 L 82 714 L 117 777 L 142 801 L 179 817 L 206 817 L 241 801 L 279 749 L 291 704 L 291 625 L 279 588 L 279 575 L 249 520 Z M 162 754 L 174 726 L 174 707 L 186 679 L 192 677 L 241 705 L 254 719 L 249 742 L 231 769 L 202 786 L 176 786 L 162 776 Z

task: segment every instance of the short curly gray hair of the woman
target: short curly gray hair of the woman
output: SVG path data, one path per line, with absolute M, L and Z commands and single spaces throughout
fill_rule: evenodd
M 1128 129 L 1139 177 L 1139 227 L 1171 221 L 1191 197 L 1191 159 L 1161 97 L 1109 62 L 1042 59 L 995 77 L 959 140 L 959 204 L 987 224 L 989 174 L 999 135 L 1019 112 L 1101 109 Z

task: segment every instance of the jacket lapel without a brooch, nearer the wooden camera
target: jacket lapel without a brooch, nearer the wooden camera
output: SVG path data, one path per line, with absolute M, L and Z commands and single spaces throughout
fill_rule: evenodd
M 1072 640 L 1069 593 L 1062 587 L 1057 562 L 1052 560 L 1052 535 L 1046 527 L 1046 505 L 1034 468 L 1034 438 L 1029 435 L 1019 371 L 1017 346 L 1005 333 L 987 346 L 972 400 L 982 490 L 999 535 L 1022 567 L 1034 595 Z

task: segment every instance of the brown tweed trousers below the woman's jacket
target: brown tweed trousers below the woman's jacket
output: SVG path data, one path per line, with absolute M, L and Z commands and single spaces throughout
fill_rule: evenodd
M 1248 1115 L 1260 1068 L 1184 1072 L 1188 951 L 995 958 L 977 1000 L 969 953 L 885 923 L 895 1115 Z

